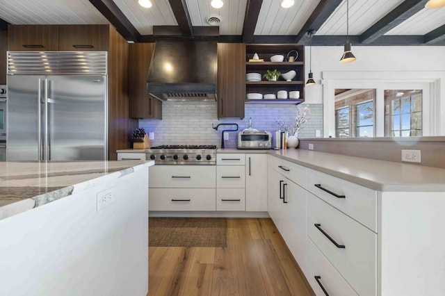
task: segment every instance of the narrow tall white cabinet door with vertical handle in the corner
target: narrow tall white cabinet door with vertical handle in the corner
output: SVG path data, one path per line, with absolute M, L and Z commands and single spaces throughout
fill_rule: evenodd
M 267 155 L 245 154 L 245 211 L 267 211 Z

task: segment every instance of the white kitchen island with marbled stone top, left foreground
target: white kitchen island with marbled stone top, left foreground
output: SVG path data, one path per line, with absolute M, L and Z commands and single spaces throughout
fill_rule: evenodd
M 0 295 L 146 295 L 153 164 L 1 163 Z

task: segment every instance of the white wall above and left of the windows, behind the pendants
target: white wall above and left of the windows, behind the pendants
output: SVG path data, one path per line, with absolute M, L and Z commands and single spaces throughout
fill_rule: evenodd
M 348 64 L 339 63 L 341 54 L 343 47 L 312 47 L 312 72 L 317 85 L 306 88 L 307 104 L 323 104 L 323 71 L 445 72 L 445 47 L 364 47 L 353 44 L 353 54 L 357 60 Z M 309 47 L 306 47 L 305 65 L 307 76 Z M 441 97 L 445 97 L 445 82 L 442 83 Z

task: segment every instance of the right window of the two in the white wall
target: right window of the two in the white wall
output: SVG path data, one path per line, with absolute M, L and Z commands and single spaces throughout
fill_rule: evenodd
M 385 136 L 422 135 L 422 91 L 385 90 Z

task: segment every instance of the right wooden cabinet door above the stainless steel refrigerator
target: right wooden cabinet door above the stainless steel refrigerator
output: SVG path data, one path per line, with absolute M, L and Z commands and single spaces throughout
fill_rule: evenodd
M 108 50 L 108 25 L 59 25 L 58 50 Z

